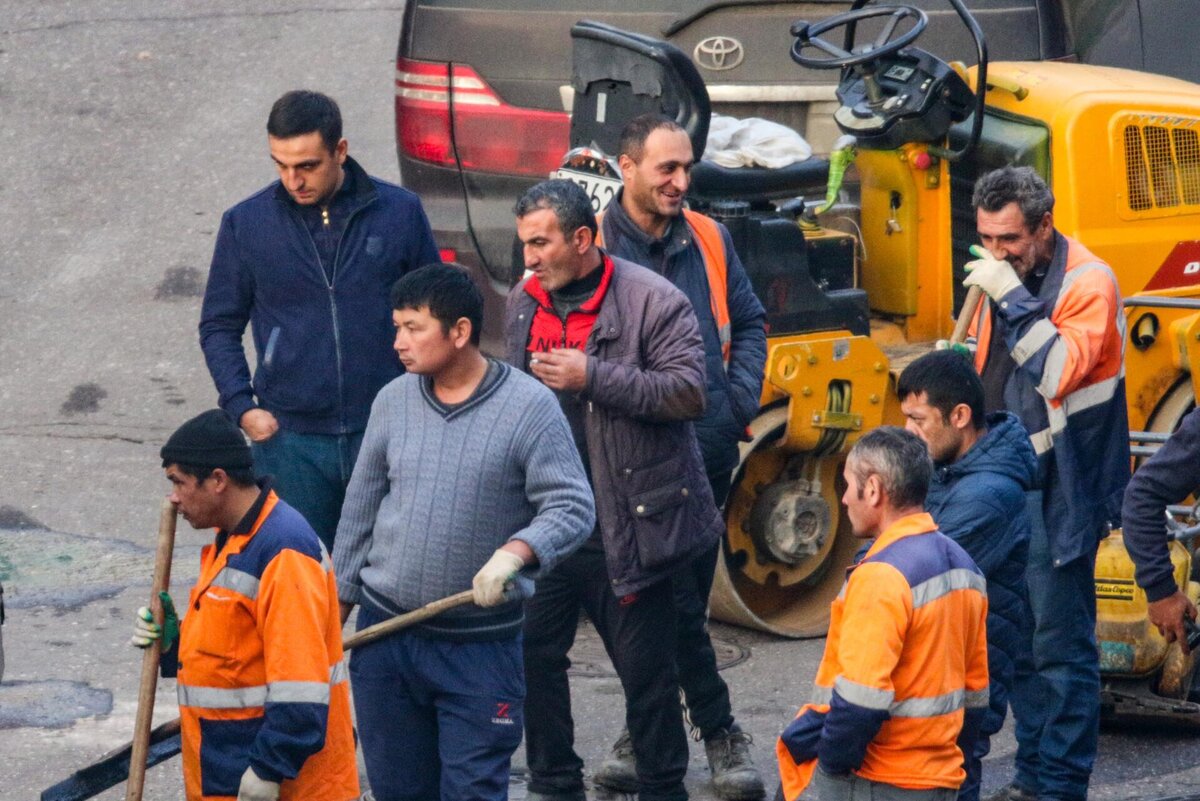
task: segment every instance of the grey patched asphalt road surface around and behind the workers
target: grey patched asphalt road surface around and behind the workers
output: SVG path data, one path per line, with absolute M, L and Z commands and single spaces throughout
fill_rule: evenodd
M 140 658 L 128 621 L 148 598 L 167 490 L 157 451 L 216 401 L 196 321 L 220 215 L 272 180 L 266 112 L 294 88 L 334 95 L 350 152 L 398 179 L 400 14 L 368 0 L 0 6 L 0 800 L 36 799 L 130 739 Z M 181 522 L 176 592 L 208 538 Z M 774 737 L 822 643 L 714 633 L 773 784 Z M 595 766 L 620 725 L 620 687 L 587 628 L 575 656 L 577 746 Z M 155 719 L 175 713 L 162 682 Z M 1198 745 L 1106 733 L 1092 797 L 1187 795 Z M 1008 779 L 1012 753 L 1006 730 L 986 788 Z M 522 765 L 518 753 L 514 799 Z M 713 797 L 698 745 L 688 784 Z M 146 797 L 182 797 L 178 760 L 150 771 Z

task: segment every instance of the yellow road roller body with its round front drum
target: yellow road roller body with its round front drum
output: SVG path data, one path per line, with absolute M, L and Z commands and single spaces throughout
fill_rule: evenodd
M 1183 301 L 1127 312 L 1130 429 L 1172 430 L 1200 395 L 1200 375 L 1188 367 L 1200 365 L 1200 303 L 1186 308 L 1200 299 L 1200 86 L 1124 70 L 1001 62 L 989 65 L 986 101 L 983 141 L 953 168 L 929 159 L 925 145 L 858 152 L 857 275 L 871 332 L 768 338 L 764 412 L 726 506 L 714 616 L 788 637 L 824 634 L 857 549 L 839 502 L 845 453 L 864 432 L 902 424 L 899 372 L 949 337 L 966 248 L 977 241 L 970 192 L 989 169 L 1038 169 L 1056 197 L 1055 225 L 1111 265 L 1126 297 Z M 1132 567 L 1122 570 L 1109 565 L 1105 576 L 1132 582 Z M 1144 624 L 1144 597 L 1129 603 Z M 1102 609 L 1117 621 L 1122 609 L 1134 614 L 1129 603 L 1104 598 Z M 1153 650 L 1157 632 L 1142 634 L 1136 640 Z M 1130 670 L 1152 657 L 1136 657 Z

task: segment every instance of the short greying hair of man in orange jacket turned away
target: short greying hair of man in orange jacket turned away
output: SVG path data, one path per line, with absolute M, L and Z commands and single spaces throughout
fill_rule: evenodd
M 895 426 L 881 426 L 863 434 L 846 456 L 858 492 L 875 475 L 893 508 L 924 506 L 929 482 L 934 477 L 934 463 L 929 448 L 916 434 Z

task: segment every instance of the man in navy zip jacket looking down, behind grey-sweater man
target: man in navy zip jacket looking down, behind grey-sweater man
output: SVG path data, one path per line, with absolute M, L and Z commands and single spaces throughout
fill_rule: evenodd
M 416 195 L 347 155 L 331 97 L 283 95 L 266 134 L 280 180 L 221 219 L 200 348 L 257 469 L 332 550 L 371 403 L 402 372 L 389 291 L 440 259 Z

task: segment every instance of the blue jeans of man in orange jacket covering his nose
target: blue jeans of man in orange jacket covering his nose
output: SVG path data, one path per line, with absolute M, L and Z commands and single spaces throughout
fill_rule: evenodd
M 1043 801 L 1084 801 L 1100 725 L 1096 650 L 1096 548 L 1055 567 L 1042 525 L 1032 526 L 1025 573 L 1032 615 L 1013 680 L 1016 776 Z

